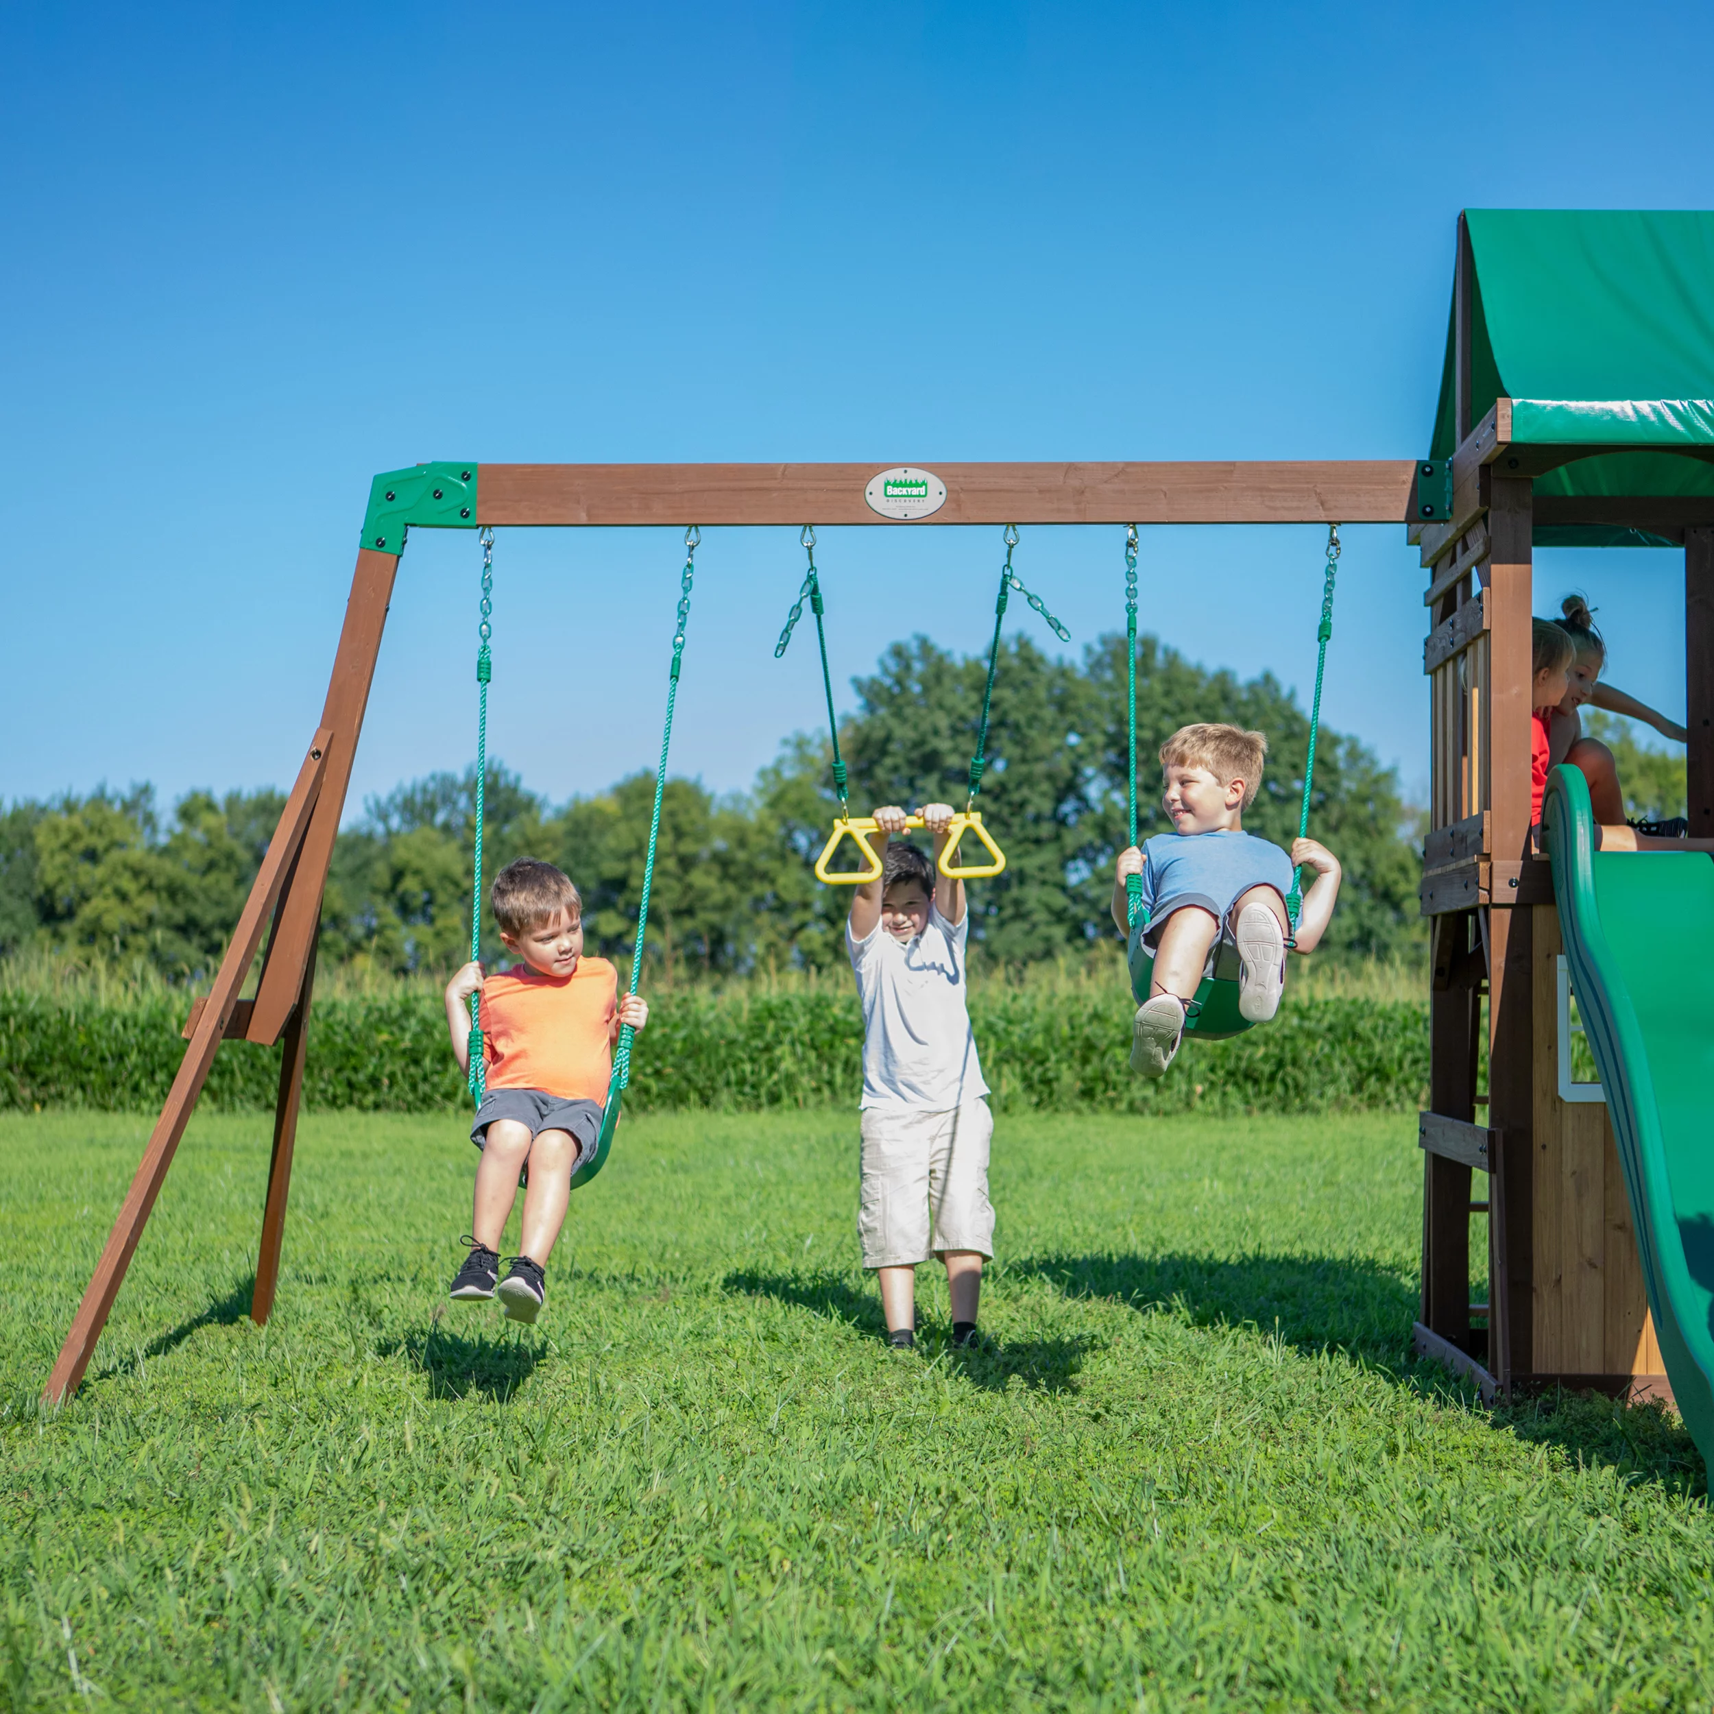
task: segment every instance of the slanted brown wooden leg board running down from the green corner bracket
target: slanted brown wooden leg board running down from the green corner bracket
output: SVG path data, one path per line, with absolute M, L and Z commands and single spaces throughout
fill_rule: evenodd
M 293 876 L 291 891 L 279 910 L 274 938 L 267 948 L 267 968 L 255 989 L 249 1037 L 252 1042 L 278 1042 L 303 991 L 310 946 L 321 926 L 327 864 L 333 862 L 333 842 L 339 831 L 339 816 L 345 812 L 345 794 L 351 783 L 357 739 L 363 730 L 363 711 L 369 708 L 369 687 L 375 677 L 381 631 L 387 622 L 387 603 L 393 600 L 393 579 L 398 569 L 396 554 L 358 548 L 351 595 L 345 605 L 345 627 L 339 632 L 339 651 L 334 655 L 321 722 L 334 734 L 334 749 L 315 816 L 303 835 L 298 872 Z

